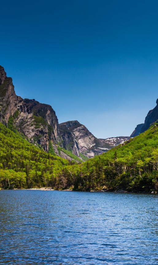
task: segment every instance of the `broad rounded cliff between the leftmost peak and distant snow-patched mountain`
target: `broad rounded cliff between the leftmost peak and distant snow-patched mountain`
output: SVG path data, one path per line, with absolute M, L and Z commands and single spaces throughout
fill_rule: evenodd
M 15 121 L 33 143 L 37 142 L 48 151 L 49 140 L 57 143 L 59 140 L 59 124 L 55 111 L 50 105 L 41 104 L 32 99 L 24 99 L 19 105 L 20 114 Z

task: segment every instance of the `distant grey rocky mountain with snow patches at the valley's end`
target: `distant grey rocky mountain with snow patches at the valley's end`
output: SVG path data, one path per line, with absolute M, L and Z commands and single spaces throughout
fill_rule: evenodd
M 102 154 L 120 143 L 128 140 L 129 137 L 111 137 L 108 139 L 97 139 L 83 124 L 77 120 L 67 121 L 59 124 L 60 135 L 63 139 L 63 146 L 71 150 L 75 155 L 91 158 Z

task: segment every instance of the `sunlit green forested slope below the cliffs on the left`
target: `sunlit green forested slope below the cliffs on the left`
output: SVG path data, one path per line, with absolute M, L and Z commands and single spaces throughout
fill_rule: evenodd
M 69 162 L 52 156 L 0 123 L 0 188 L 33 188 L 59 182 Z M 64 182 L 62 182 L 64 183 Z

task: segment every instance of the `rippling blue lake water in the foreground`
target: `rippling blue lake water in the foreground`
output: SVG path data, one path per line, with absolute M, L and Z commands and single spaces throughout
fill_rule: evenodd
M 157 264 L 152 194 L 0 191 L 0 264 Z

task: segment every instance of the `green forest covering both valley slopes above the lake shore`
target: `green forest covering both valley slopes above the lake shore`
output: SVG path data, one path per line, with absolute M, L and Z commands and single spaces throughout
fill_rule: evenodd
M 158 124 L 80 164 L 51 153 L 0 123 L 0 188 L 129 192 L 158 188 Z

